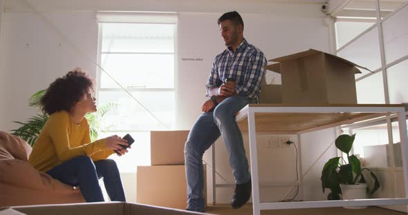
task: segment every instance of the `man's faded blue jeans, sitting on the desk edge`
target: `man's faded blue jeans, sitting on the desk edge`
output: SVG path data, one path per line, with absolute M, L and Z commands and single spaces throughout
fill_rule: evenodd
M 201 114 L 194 123 L 184 148 L 187 209 L 198 212 L 203 212 L 205 209 L 203 154 L 220 135 L 230 155 L 235 183 L 243 184 L 250 181 L 242 134 L 235 121 L 235 114 L 248 103 L 248 99 L 242 96 L 231 96 L 219 103 L 214 110 Z

